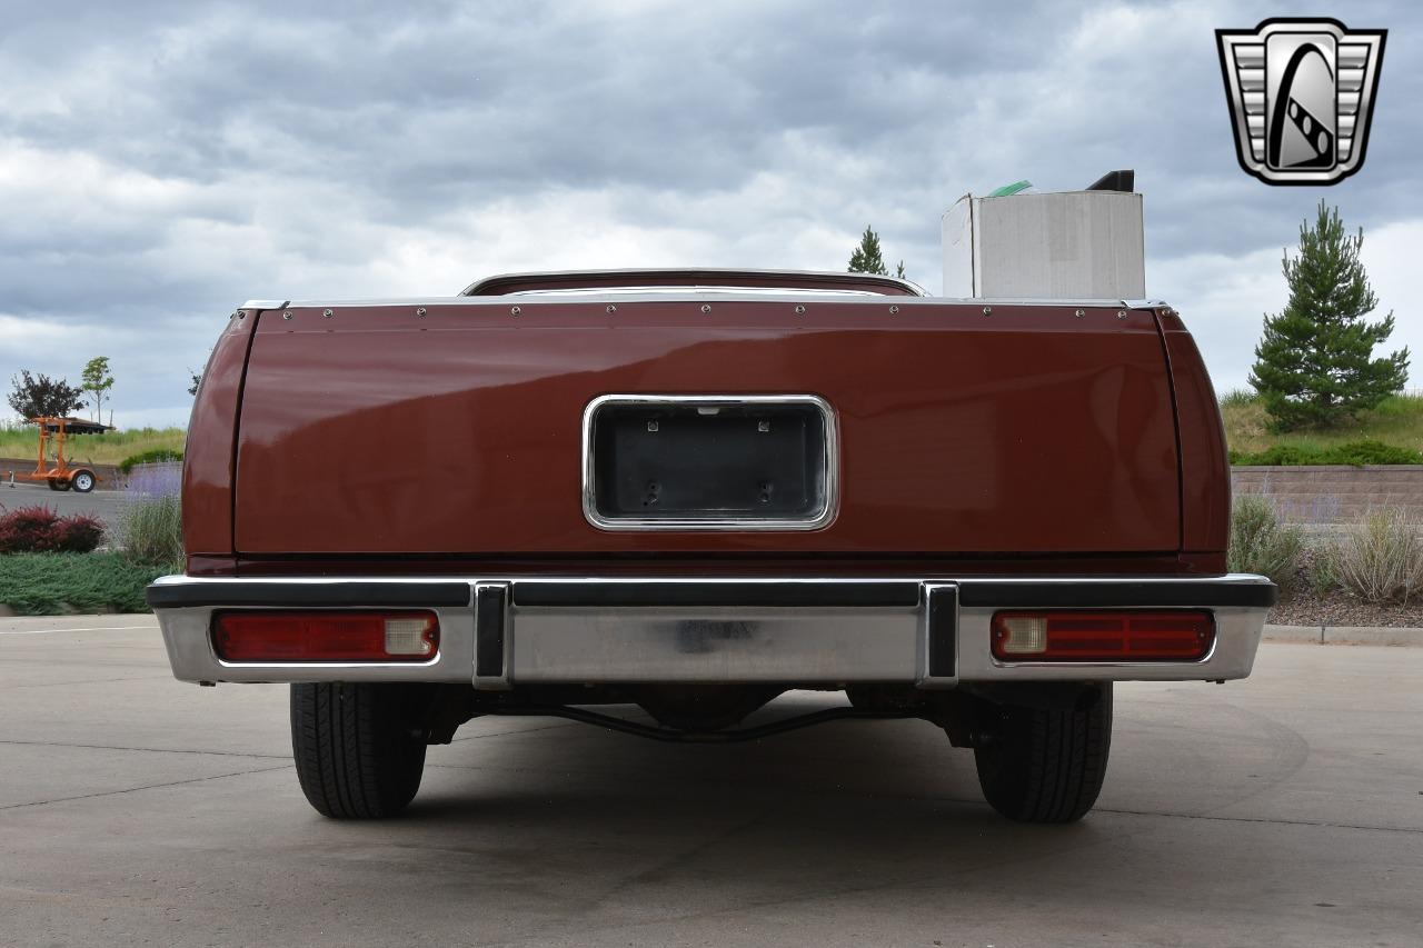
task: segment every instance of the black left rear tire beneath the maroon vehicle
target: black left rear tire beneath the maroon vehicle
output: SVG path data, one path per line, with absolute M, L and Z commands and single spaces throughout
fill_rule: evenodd
M 302 793 L 322 816 L 379 820 L 416 797 L 425 742 L 416 685 L 293 685 L 292 752 Z

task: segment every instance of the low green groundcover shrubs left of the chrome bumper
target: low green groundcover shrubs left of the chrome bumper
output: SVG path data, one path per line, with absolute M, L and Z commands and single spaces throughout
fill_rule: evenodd
M 0 557 L 0 602 L 20 615 L 148 612 L 144 586 L 174 569 L 124 554 L 9 554 Z

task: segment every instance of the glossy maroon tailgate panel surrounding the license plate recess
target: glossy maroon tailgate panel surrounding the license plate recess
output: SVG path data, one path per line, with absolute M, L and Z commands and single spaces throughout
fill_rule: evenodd
M 1150 310 L 904 297 L 323 310 L 258 323 L 239 554 L 1180 549 Z M 612 393 L 824 399 L 838 515 L 798 532 L 599 530 L 581 504 L 582 417 Z

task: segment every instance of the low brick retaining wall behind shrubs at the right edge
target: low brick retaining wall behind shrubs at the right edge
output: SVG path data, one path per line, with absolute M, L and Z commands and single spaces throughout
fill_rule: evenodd
M 1338 524 L 1376 507 L 1403 507 L 1423 521 L 1423 465 L 1322 464 L 1231 468 L 1235 495 L 1264 494 L 1289 520 Z

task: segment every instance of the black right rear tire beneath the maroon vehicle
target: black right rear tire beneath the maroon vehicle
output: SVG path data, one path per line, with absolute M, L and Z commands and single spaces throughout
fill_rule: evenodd
M 973 749 L 989 804 L 1020 823 L 1073 823 L 1097 801 L 1111 750 L 1111 685 L 1073 707 L 998 705 Z

